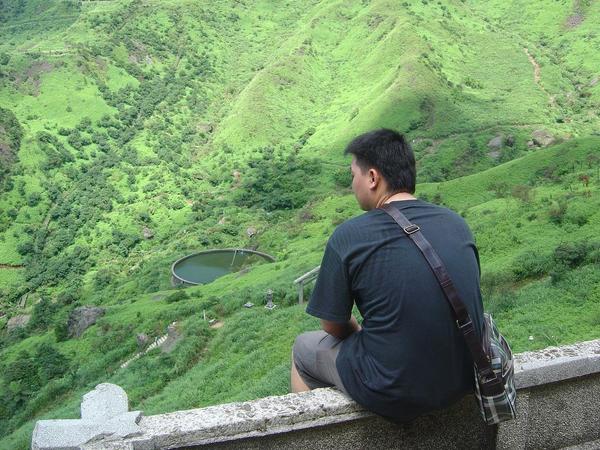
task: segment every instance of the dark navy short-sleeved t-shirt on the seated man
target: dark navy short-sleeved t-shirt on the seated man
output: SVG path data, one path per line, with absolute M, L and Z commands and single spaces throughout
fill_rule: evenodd
M 421 200 L 393 204 L 421 227 L 481 334 L 479 257 L 465 221 Z M 472 390 L 473 361 L 435 275 L 417 246 L 379 209 L 337 227 L 306 311 L 345 322 L 354 303 L 363 329 L 344 340 L 336 366 L 358 403 L 405 421 Z

